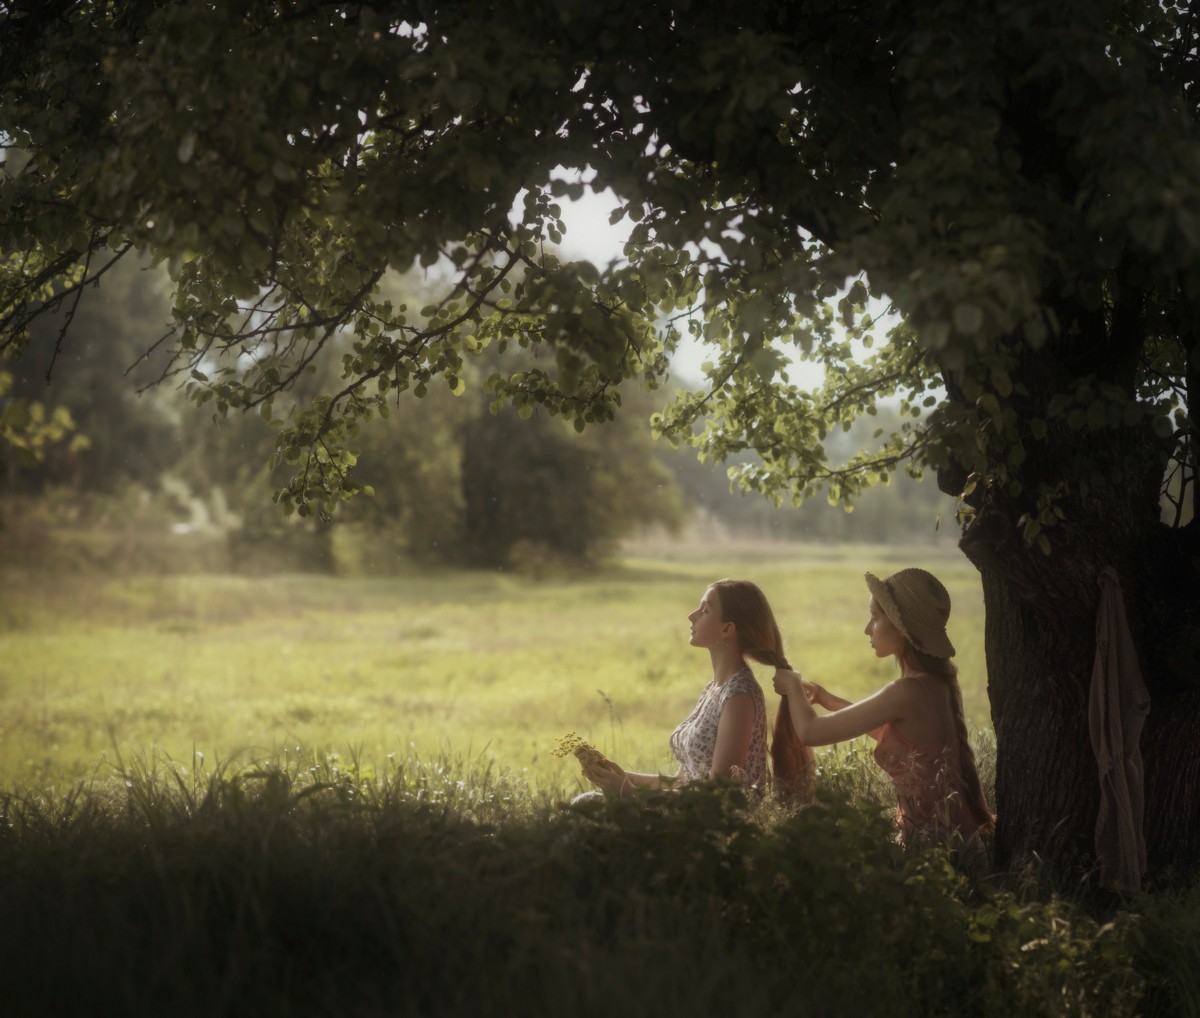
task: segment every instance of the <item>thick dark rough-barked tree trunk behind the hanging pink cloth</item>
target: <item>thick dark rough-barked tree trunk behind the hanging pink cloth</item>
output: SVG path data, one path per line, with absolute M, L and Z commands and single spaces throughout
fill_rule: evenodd
M 1036 858 L 1062 879 L 1093 872 L 1099 772 L 1087 725 L 1098 576 L 1120 577 L 1151 693 L 1140 741 L 1147 870 L 1200 863 L 1200 547 L 1195 526 L 1129 526 L 1114 478 L 1054 552 L 1024 547 L 1012 510 L 984 503 L 961 547 L 980 571 L 996 731 L 996 864 Z M 1075 514 L 1070 514 L 1075 515 Z

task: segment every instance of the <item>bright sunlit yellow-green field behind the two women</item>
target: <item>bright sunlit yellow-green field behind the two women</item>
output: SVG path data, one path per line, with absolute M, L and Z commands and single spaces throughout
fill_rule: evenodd
M 545 580 L 26 570 L 0 599 L 0 788 L 118 754 L 236 766 L 299 748 L 484 761 L 562 794 L 575 767 L 550 750 L 568 731 L 631 768 L 670 768 L 667 736 L 709 677 L 686 615 L 710 580 L 757 582 L 793 665 L 854 699 L 894 673 L 862 634 L 862 574 L 908 564 L 952 592 L 968 723 L 988 730 L 979 585 L 953 549 L 665 547 Z

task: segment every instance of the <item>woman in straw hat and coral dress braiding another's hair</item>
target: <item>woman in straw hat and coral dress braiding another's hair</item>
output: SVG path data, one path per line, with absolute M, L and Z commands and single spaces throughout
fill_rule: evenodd
M 857 703 L 794 671 L 775 672 L 800 742 L 828 745 L 862 735 L 876 739 L 875 761 L 896 789 L 896 822 L 905 843 L 965 846 L 992 826 L 974 753 L 967 741 L 954 645 L 946 635 L 950 595 L 931 573 L 901 569 L 886 580 L 868 573 L 871 617 L 864 633 L 876 657 L 894 657 L 899 678 Z M 829 713 L 817 714 L 812 705 Z

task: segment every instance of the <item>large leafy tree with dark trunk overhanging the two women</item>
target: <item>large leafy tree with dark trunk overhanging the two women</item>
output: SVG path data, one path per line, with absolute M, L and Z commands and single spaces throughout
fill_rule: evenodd
M 1153 709 L 1152 867 L 1200 858 L 1198 11 L 1159 0 L 11 0 L 0 11 L 0 327 L 19 347 L 126 251 L 175 281 L 175 367 L 293 413 L 286 509 L 358 485 L 356 421 L 520 343 L 499 403 L 583 427 L 683 331 L 709 384 L 656 418 L 768 495 L 898 468 L 962 496 L 988 607 L 997 849 L 1075 868 L 1097 577 Z M 626 261 L 554 253 L 612 188 Z M 443 297 L 388 303 L 428 267 Z M 888 325 L 876 335 L 868 309 Z M 790 357 L 826 367 L 804 391 Z M 404 394 L 400 396 L 400 394 Z M 906 426 L 830 462 L 881 400 Z M 697 426 L 702 425 L 702 426 Z M 1164 521 L 1162 497 L 1168 502 Z

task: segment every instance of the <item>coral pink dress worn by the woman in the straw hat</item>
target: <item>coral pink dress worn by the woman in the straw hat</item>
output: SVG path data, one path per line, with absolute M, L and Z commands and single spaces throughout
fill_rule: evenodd
M 876 729 L 875 762 L 896 789 L 896 825 L 900 839 L 944 844 L 961 838 L 978 845 L 982 826 L 972 815 L 964 792 L 958 739 L 953 743 L 911 743 L 892 721 Z

